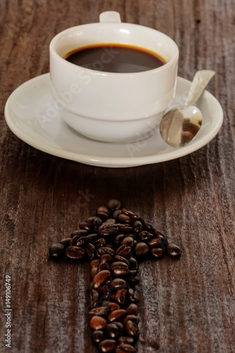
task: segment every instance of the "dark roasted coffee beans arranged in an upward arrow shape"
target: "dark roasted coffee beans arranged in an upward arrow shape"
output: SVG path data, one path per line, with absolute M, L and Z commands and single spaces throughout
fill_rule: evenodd
M 112 199 L 81 222 L 71 237 L 53 244 L 49 254 L 90 260 L 88 306 L 92 342 L 100 352 L 132 353 L 138 339 L 138 261 L 146 256 L 176 257 L 181 249 L 139 215 Z

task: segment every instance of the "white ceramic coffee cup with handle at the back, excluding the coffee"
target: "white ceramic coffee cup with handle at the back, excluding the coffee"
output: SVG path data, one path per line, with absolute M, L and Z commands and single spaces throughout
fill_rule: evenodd
M 128 44 L 162 56 L 167 64 L 137 73 L 100 71 L 66 61 L 69 52 L 92 44 Z M 49 47 L 50 77 L 55 104 L 66 123 L 95 140 L 128 142 L 152 131 L 174 99 L 179 49 L 164 33 L 142 25 L 121 23 L 119 13 L 100 14 L 100 23 L 78 25 L 56 35 Z M 110 58 L 109 58 L 110 57 Z M 99 66 L 100 65 L 100 66 Z

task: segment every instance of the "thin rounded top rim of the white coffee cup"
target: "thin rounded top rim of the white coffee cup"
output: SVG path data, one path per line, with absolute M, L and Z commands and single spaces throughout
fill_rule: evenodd
M 140 72 L 131 72 L 131 73 L 128 73 L 128 72 L 125 72 L 125 73 L 116 73 L 116 72 L 108 72 L 108 71 L 98 71 L 98 70 L 93 70 L 92 68 L 84 68 L 83 66 L 79 66 L 79 65 L 75 65 L 69 61 L 66 61 L 66 59 L 64 59 L 62 56 L 60 56 L 57 52 L 56 52 L 56 49 L 54 48 L 55 44 L 56 44 L 56 40 L 59 39 L 59 37 L 63 36 L 66 32 L 69 32 L 69 31 L 72 31 L 76 28 L 84 28 L 84 27 L 91 27 L 91 26 L 96 26 L 96 25 L 102 25 L 102 26 L 107 26 L 107 27 L 110 27 L 110 26 L 113 26 L 115 25 L 116 27 L 121 27 L 121 25 L 125 25 L 125 26 L 128 26 L 128 27 L 131 27 L 131 28 L 135 28 L 138 26 L 138 28 L 145 28 L 145 30 L 150 30 L 151 32 L 154 31 L 154 32 L 158 32 L 160 35 L 162 35 L 163 37 L 166 37 L 167 40 L 169 40 L 173 46 L 174 46 L 174 49 L 175 49 L 175 54 L 174 56 L 169 60 L 167 61 L 166 64 L 162 65 L 162 66 L 159 66 L 158 68 L 152 68 L 151 70 L 147 70 L 147 71 L 140 71 Z M 105 44 L 105 43 L 104 43 Z M 109 44 L 109 43 L 107 43 Z M 115 43 L 116 44 L 116 43 Z M 118 43 L 117 43 L 118 44 Z M 138 47 L 136 45 L 136 47 Z M 49 52 L 50 54 L 54 55 L 56 57 L 56 59 L 59 59 L 59 61 L 61 61 L 61 63 L 63 62 L 64 65 L 68 66 L 68 67 L 73 67 L 75 70 L 80 70 L 80 69 L 83 69 L 85 72 L 87 73 L 90 73 L 92 76 L 118 76 L 118 77 L 128 77 L 128 76 L 143 76 L 143 75 L 149 75 L 149 74 L 152 74 L 152 73 L 155 73 L 155 72 L 159 72 L 159 71 L 163 71 L 165 70 L 166 68 L 168 68 L 168 66 L 171 66 L 171 64 L 173 64 L 175 61 L 177 61 L 177 59 L 179 59 L 179 47 L 178 45 L 176 44 L 176 42 L 174 42 L 174 40 L 171 39 L 171 37 L 169 37 L 168 35 L 164 34 L 163 32 L 160 32 L 159 30 L 155 30 L 154 28 L 150 28 L 150 27 L 147 27 L 147 26 L 144 26 L 144 25 L 137 25 L 135 23 L 125 23 L 125 22 L 121 22 L 121 23 L 100 23 L 100 22 L 97 22 L 97 23 L 87 23 L 87 24 L 84 24 L 84 25 L 76 25 L 76 26 L 73 26 L 71 28 L 67 28 L 66 30 L 63 30 L 61 32 L 59 32 L 57 35 L 55 35 L 50 44 L 49 44 Z

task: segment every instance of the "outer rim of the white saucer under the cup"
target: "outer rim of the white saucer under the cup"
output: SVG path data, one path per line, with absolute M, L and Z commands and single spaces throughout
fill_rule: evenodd
M 221 104 L 218 102 L 218 100 L 215 98 L 214 95 L 212 95 L 210 92 L 205 90 L 205 94 L 209 95 L 209 97 L 212 98 L 214 102 L 216 102 L 217 109 L 219 109 L 219 112 L 218 112 L 217 124 L 215 124 L 215 127 L 213 128 L 213 130 L 210 131 L 209 134 L 205 134 L 205 136 L 202 136 L 200 140 L 196 140 L 196 141 L 192 140 L 190 144 L 181 148 L 170 148 L 166 143 L 166 148 L 169 148 L 169 151 L 167 153 L 161 153 L 156 155 L 133 156 L 133 157 L 131 156 L 109 157 L 109 156 L 99 156 L 99 155 L 84 155 L 84 153 L 73 152 L 73 151 L 65 150 L 64 148 L 56 148 L 56 147 L 52 147 L 51 145 L 47 145 L 46 143 L 39 142 L 31 138 L 31 136 L 28 133 L 25 133 L 24 131 L 22 131 L 21 128 L 18 128 L 16 123 L 13 121 L 13 118 L 11 116 L 11 100 L 13 100 L 14 95 L 16 95 L 16 93 L 19 90 L 23 90 L 25 86 L 28 86 L 31 84 L 35 85 L 35 83 L 37 83 L 37 81 L 39 80 L 49 80 L 49 73 L 44 73 L 40 76 L 36 76 L 35 78 L 31 78 L 30 80 L 27 80 L 25 83 L 22 83 L 20 86 L 18 86 L 18 88 L 16 88 L 16 90 L 14 90 L 11 93 L 11 95 L 8 97 L 8 100 L 6 101 L 6 105 L 4 109 L 6 124 L 18 138 L 23 140 L 25 143 L 28 143 L 28 145 L 31 145 L 32 147 L 37 148 L 37 150 L 41 150 L 43 152 L 49 153 L 50 155 L 54 155 L 56 157 L 62 157 L 67 160 L 73 160 L 75 162 L 80 162 L 83 164 L 89 164 L 97 167 L 119 168 L 119 167 L 137 167 L 141 165 L 155 164 L 159 162 L 167 162 L 169 160 L 174 160 L 176 158 L 191 154 L 192 152 L 195 152 L 200 148 L 203 148 L 207 143 L 210 142 L 210 140 L 215 138 L 223 123 L 224 114 L 222 111 Z M 186 80 L 186 78 L 181 78 L 180 76 L 177 76 L 177 80 L 181 80 L 185 85 L 189 85 L 191 83 L 190 80 Z M 32 116 L 32 119 L 34 118 L 35 116 Z M 80 136 L 80 137 L 84 138 L 84 136 Z M 99 142 L 99 141 L 96 141 L 96 142 L 102 144 L 102 142 Z M 123 144 L 126 145 L 126 143 L 123 143 Z

